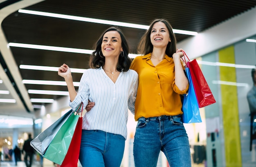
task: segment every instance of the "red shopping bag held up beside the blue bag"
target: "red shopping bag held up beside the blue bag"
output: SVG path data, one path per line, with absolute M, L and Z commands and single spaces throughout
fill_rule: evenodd
M 182 52 L 184 56 L 188 58 L 186 53 L 184 51 Z M 213 94 L 211 93 L 211 89 L 207 84 L 196 59 L 192 61 L 189 60 L 188 62 L 186 62 L 186 65 L 189 67 L 189 70 L 191 73 L 191 78 L 192 78 L 193 86 L 195 89 L 195 95 L 198 100 L 199 108 L 215 103 L 216 100 L 214 99 Z

